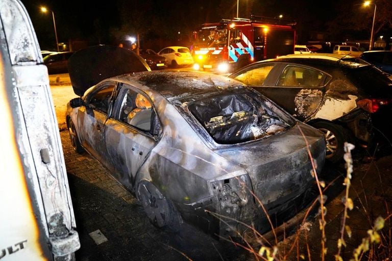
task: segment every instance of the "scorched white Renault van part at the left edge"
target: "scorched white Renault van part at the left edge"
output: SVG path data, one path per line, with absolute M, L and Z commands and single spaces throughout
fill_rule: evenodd
M 0 1 L 0 259 L 80 248 L 46 66 L 19 0 Z

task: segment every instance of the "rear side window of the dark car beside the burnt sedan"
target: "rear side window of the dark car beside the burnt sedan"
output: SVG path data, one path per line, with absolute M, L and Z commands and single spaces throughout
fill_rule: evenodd
M 280 79 L 278 86 L 301 86 L 318 87 L 321 86 L 323 73 L 299 66 L 287 66 Z

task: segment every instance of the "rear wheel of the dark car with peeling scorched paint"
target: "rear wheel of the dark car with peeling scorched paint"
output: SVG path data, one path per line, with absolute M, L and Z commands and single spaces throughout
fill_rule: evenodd
M 326 160 L 335 163 L 343 158 L 345 142 L 348 136 L 345 128 L 330 122 L 316 122 L 311 124 L 324 134 L 326 141 Z

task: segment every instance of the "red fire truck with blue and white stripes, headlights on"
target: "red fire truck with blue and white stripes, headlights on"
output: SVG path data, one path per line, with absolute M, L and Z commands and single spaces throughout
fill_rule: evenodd
M 204 23 L 193 32 L 193 68 L 227 72 L 293 54 L 295 25 L 295 21 L 254 15 Z

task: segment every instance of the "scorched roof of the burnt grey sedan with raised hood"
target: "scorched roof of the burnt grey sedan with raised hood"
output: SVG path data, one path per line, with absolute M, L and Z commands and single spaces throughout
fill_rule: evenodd
M 204 93 L 233 89 L 248 89 L 244 84 L 226 76 L 200 71 L 148 71 L 113 77 L 119 82 L 137 82 L 167 99 L 180 99 Z

